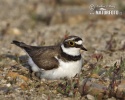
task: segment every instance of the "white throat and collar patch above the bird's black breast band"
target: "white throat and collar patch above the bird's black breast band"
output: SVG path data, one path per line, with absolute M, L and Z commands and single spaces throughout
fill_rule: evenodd
M 80 48 L 75 48 L 75 47 L 65 48 L 63 44 L 61 44 L 61 48 L 63 52 L 68 55 L 71 55 L 71 56 L 80 55 Z

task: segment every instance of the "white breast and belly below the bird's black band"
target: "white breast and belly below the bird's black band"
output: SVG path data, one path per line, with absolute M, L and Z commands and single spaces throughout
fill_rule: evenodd
M 41 78 L 46 79 L 60 79 L 60 78 L 71 78 L 74 77 L 81 71 L 82 68 L 82 59 L 79 61 L 72 61 L 72 62 L 63 62 L 59 59 L 59 67 L 56 69 L 43 71 L 41 74 Z

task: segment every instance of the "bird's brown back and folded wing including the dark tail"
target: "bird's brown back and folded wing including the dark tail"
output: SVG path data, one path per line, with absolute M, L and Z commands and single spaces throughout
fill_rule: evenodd
M 57 68 L 59 65 L 55 56 L 59 56 L 60 46 L 36 47 L 18 41 L 13 41 L 12 43 L 23 48 L 39 68 L 50 70 Z

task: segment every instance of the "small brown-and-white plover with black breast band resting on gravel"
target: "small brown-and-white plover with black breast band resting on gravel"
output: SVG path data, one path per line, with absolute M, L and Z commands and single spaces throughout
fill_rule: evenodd
M 79 74 L 83 66 L 80 51 L 87 51 L 78 36 L 68 36 L 52 46 L 31 46 L 16 40 L 12 44 L 27 53 L 28 64 L 37 77 L 49 80 L 73 78 Z

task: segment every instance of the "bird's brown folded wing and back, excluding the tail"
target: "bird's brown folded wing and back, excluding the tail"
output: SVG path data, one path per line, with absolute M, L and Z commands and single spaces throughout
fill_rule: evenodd
M 57 68 L 59 65 L 55 56 L 58 56 L 58 47 L 32 47 L 31 51 L 27 51 L 34 63 L 42 69 L 50 70 Z

